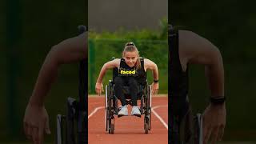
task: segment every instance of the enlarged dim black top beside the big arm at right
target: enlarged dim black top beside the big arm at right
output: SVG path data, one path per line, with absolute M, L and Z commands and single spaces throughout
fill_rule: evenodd
M 169 77 L 168 96 L 172 114 L 182 114 L 186 109 L 186 95 L 188 94 L 189 81 L 188 69 L 183 72 L 178 54 L 178 30 L 169 29 Z

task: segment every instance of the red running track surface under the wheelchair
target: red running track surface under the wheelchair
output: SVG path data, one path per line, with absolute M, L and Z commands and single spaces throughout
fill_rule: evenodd
M 97 107 L 105 106 L 104 98 L 104 96 L 90 97 L 88 113 L 91 114 Z M 154 111 L 168 125 L 167 97 L 153 97 L 152 107 L 155 107 Z M 129 108 L 129 114 L 130 110 Z M 149 134 L 145 134 L 143 119 L 143 116 L 142 118 L 134 116 L 117 118 L 115 116 L 114 134 L 108 134 L 105 130 L 105 108 L 98 109 L 88 119 L 89 144 L 163 144 L 168 142 L 168 130 L 154 113 L 151 113 L 151 130 L 149 130 Z

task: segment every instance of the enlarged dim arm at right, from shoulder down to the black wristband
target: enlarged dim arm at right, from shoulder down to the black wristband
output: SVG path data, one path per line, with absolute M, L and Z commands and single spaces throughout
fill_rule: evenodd
M 224 68 L 222 55 L 218 48 L 193 32 L 179 31 L 179 54 L 182 68 L 186 63 L 197 63 L 205 66 L 206 77 L 209 79 L 211 95 L 224 96 Z

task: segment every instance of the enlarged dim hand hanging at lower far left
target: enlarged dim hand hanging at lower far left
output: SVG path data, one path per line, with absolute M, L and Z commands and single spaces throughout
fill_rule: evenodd
M 34 144 L 42 144 L 44 132 L 50 134 L 49 116 L 45 106 L 33 105 L 29 102 L 23 119 L 26 138 L 32 139 Z

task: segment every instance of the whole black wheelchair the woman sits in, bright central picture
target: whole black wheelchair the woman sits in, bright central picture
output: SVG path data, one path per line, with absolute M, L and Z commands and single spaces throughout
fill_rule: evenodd
M 112 58 L 114 59 L 114 58 Z M 118 76 L 118 68 L 113 69 L 113 79 L 109 80 L 109 84 L 106 85 L 105 94 L 105 121 L 106 131 L 109 134 L 114 134 L 114 115 L 118 115 L 118 96 L 114 94 L 114 78 Z M 123 87 L 123 91 L 126 97 L 126 103 L 131 104 L 130 90 L 128 86 Z M 140 100 L 140 112 L 144 114 L 144 130 L 145 134 L 148 134 L 151 129 L 151 86 L 148 82 L 140 84 L 138 89 L 138 100 Z M 141 117 L 141 116 L 139 116 Z M 119 116 L 118 116 L 119 118 Z

